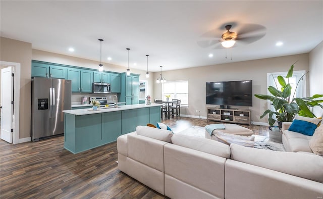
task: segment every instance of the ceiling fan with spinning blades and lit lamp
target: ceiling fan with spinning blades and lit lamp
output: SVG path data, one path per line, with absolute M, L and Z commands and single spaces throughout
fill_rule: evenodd
M 235 28 L 236 32 L 230 31 Z M 224 28 L 227 32 L 223 33 Z M 219 29 L 214 29 L 201 35 L 203 40 L 197 41 L 201 47 L 213 47 L 220 49 L 223 47 L 233 47 L 237 44 L 249 44 L 262 38 L 266 32 L 266 28 L 259 24 L 236 24 L 234 22 L 221 26 Z M 221 35 L 221 38 L 219 37 Z M 210 38 L 205 40 L 204 38 Z M 222 45 L 221 45 L 222 44 Z

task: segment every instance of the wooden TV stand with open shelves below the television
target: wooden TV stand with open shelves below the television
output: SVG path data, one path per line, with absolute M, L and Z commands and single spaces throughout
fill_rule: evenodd
M 230 122 L 237 124 L 251 125 L 251 111 L 243 109 L 220 109 L 217 107 L 208 107 L 207 121 Z

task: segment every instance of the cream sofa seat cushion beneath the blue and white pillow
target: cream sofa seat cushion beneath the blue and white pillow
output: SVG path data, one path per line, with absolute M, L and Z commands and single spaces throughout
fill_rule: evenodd
M 302 133 L 296 133 L 294 131 L 285 130 L 283 134 L 288 141 L 289 149 L 291 152 L 310 152 L 309 140 L 312 136 L 304 135 Z

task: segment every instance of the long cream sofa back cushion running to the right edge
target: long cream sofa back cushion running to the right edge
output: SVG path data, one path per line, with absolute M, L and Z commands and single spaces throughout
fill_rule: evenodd
M 315 154 L 275 152 L 231 144 L 231 159 L 323 182 L 323 158 Z

